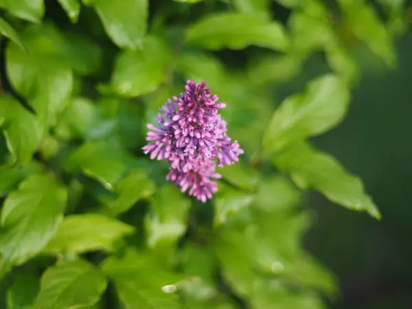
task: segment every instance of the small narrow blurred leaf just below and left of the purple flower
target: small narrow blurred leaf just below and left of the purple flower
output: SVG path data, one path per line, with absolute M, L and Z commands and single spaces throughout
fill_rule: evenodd
M 148 198 L 156 190 L 155 183 L 144 169 L 132 170 L 116 185 L 117 198 L 108 203 L 110 214 L 117 216 L 128 211 L 137 201 Z

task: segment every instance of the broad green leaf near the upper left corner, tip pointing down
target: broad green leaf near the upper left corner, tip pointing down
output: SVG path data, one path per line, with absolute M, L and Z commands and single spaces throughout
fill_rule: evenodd
M 6 68 L 12 86 L 25 96 L 45 126 L 56 124 L 67 104 L 73 74 L 49 37 L 52 27 L 34 25 L 21 34 L 28 49 L 23 52 L 14 43 L 8 45 Z M 56 91 L 58 89 L 58 91 Z

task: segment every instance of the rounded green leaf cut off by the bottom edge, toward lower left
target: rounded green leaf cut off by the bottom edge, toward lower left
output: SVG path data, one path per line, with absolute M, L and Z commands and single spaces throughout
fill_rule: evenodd
M 82 308 L 95 304 L 106 290 L 104 275 L 85 260 L 62 260 L 41 277 L 36 309 Z

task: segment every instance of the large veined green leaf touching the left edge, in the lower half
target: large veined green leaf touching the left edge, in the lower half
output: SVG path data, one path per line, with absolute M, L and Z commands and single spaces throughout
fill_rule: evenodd
M 23 264 L 52 238 L 65 209 L 67 192 L 50 176 L 27 178 L 5 199 L 1 211 L 3 269 Z

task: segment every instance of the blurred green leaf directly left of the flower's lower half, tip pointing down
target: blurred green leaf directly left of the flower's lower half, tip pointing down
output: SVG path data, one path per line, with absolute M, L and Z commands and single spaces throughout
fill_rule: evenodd
M 115 139 L 83 144 L 65 162 L 68 172 L 82 172 L 106 187 L 113 187 L 126 170 L 122 145 Z

